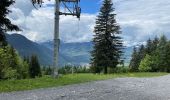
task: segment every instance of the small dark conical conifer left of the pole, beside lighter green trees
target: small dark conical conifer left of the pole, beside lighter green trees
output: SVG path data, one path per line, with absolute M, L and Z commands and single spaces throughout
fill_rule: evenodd
M 41 76 L 41 68 L 37 56 L 32 55 L 29 65 L 29 74 L 31 78 Z

